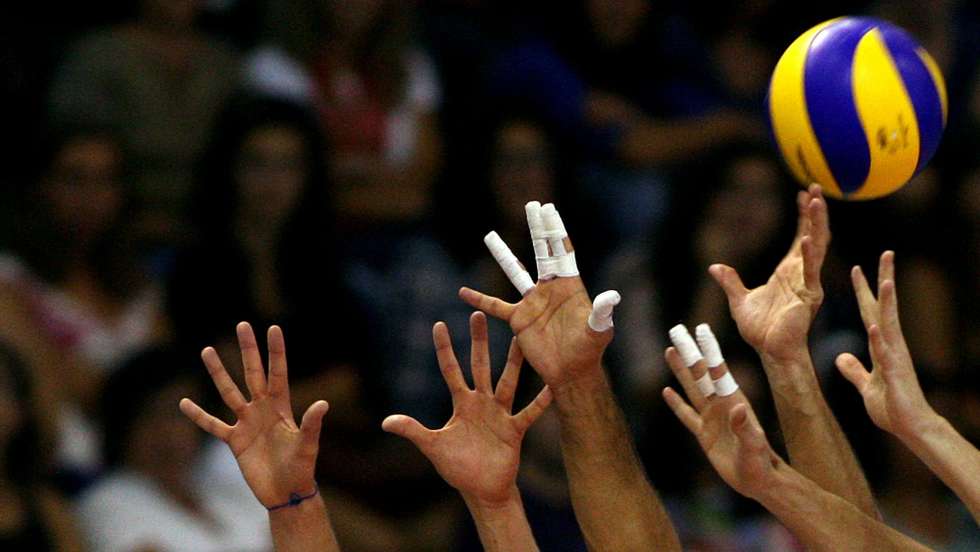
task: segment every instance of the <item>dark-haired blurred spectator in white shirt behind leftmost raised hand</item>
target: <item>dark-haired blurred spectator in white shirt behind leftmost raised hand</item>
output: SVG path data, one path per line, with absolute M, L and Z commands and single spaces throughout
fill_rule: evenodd
M 200 400 L 188 360 L 167 349 L 147 350 L 106 382 L 101 413 L 111 470 L 77 504 L 94 551 L 271 547 L 265 509 L 240 478 L 236 493 L 195 473 L 204 442 L 174 408 L 183 397 Z

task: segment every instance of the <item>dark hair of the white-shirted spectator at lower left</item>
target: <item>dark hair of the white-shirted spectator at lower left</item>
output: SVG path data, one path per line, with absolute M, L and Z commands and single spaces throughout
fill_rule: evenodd
M 100 402 L 107 466 L 119 467 L 125 461 L 133 426 L 154 395 L 183 379 L 197 381 L 196 372 L 187 368 L 189 361 L 176 349 L 154 347 L 134 354 L 109 376 Z

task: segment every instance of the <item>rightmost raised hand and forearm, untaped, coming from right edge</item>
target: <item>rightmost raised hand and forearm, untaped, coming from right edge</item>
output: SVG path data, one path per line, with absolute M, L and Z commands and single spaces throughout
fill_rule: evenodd
M 837 357 L 838 369 L 861 394 L 875 425 L 909 447 L 980 522 L 980 451 L 937 414 L 922 393 L 898 316 L 895 253 L 881 255 L 877 298 L 860 267 L 851 271 L 851 281 L 868 332 L 872 369 L 850 353 Z

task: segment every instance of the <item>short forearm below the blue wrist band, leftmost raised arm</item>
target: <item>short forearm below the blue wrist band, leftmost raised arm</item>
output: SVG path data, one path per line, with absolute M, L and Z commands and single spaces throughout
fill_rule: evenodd
M 323 497 L 269 512 L 276 552 L 339 552 Z

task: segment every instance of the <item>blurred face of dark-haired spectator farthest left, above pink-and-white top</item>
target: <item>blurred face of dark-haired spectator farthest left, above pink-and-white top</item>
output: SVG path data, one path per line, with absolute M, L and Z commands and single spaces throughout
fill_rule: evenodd
M 80 241 L 108 228 L 122 206 L 122 156 L 109 140 L 77 138 L 65 144 L 42 182 L 48 211 Z

